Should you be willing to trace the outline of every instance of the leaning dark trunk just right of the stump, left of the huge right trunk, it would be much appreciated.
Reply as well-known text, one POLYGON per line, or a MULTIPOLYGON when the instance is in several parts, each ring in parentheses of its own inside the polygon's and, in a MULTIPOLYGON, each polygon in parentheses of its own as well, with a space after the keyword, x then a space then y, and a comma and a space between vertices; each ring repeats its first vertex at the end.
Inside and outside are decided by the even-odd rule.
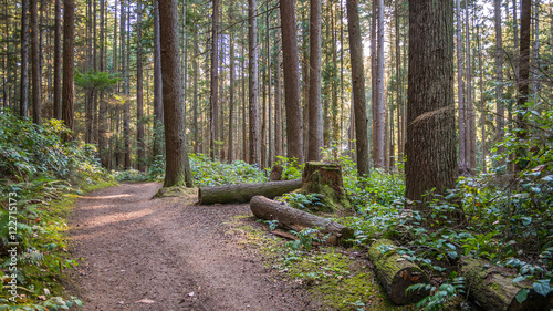
POLYGON ((357 151, 357 172, 368 175, 368 135, 365 103, 365 71, 363 64, 363 44, 361 41, 359 12, 357 1, 347 0, 347 30, 352 58, 353 106, 355 115, 355 145, 357 151))

